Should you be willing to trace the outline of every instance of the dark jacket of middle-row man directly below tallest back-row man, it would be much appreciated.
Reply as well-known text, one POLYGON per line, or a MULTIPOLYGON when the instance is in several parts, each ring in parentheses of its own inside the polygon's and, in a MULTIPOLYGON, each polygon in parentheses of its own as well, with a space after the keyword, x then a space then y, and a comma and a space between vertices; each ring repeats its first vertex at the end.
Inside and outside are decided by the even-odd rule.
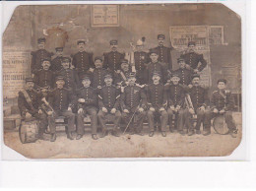
POLYGON ((160 62, 156 62, 156 63, 151 62, 148 65, 147 77, 146 77, 148 84, 153 83, 152 77, 153 77, 153 73, 155 73, 155 72, 160 73, 160 75, 161 75, 160 82, 165 84, 167 82, 168 72, 167 72, 166 65, 162 64, 160 62))

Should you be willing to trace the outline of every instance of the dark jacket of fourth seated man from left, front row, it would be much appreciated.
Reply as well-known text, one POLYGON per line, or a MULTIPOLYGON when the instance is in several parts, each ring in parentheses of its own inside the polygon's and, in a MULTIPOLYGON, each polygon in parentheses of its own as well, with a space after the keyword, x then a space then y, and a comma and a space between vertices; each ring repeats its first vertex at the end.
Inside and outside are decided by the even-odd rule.
POLYGON ((120 91, 114 86, 103 86, 98 90, 98 106, 100 109, 105 107, 107 110, 115 108, 120 109, 120 91))

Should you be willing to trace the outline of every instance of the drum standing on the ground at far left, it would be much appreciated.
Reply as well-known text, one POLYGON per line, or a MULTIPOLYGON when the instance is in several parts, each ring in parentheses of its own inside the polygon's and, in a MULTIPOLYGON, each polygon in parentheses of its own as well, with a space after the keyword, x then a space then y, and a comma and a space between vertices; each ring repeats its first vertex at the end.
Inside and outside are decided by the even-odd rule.
POLYGON ((37 121, 23 121, 19 129, 21 142, 23 144, 35 142, 38 138, 38 129, 37 121))

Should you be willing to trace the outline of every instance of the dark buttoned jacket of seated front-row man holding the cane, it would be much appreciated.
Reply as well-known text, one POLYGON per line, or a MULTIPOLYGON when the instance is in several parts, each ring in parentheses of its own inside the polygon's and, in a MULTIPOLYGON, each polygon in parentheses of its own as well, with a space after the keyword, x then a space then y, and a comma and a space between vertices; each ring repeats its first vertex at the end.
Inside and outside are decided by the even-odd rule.
POLYGON ((124 88, 124 93, 121 95, 121 108, 122 110, 128 109, 134 112, 140 105, 146 109, 147 97, 142 88, 134 85, 124 88))

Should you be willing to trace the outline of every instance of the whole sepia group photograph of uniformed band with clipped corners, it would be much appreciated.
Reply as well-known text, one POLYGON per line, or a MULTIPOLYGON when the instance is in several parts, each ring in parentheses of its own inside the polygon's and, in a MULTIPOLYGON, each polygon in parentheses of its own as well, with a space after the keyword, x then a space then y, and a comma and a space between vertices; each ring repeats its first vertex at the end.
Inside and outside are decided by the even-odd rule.
POLYGON ((229 156, 241 43, 220 3, 18 6, 2 41, 4 144, 29 159, 229 156))

